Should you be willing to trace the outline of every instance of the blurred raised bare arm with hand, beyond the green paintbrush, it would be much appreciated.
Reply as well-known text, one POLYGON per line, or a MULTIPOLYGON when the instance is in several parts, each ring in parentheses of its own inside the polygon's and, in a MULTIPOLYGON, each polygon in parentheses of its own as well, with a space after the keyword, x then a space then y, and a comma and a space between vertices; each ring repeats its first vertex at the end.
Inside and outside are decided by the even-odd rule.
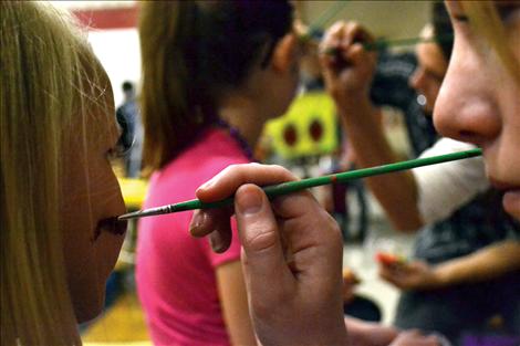
MULTIPOLYGON (((322 46, 322 50, 340 52, 334 56, 322 56, 325 83, 361 167, 396 161, 378 122, 379 111, 368 98, 376 57, 358 42, 370 40, 357 24, 337 23, 327 32, 322 46)), ((366 181, 396 229, 412 231, 423 226, 417 208, 417 186, 409 171, 366 181)))

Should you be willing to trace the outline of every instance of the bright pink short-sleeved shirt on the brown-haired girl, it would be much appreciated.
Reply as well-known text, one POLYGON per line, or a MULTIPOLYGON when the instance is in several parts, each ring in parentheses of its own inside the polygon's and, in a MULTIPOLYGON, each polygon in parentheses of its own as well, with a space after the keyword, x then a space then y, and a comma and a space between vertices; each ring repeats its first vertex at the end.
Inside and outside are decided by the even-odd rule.
MULTIPOLYGON (((153 175, 145 208, 195 198, 195 190, 229 165, 248 162, 225 132, 210 129, 163 170, 153 175)), ((230 249, 211 251, 208 239, 189 234, 193 212, 139 222, 136 281, 155 345, 229 345, 215 270, 240 260, 233 224, 230 249)))

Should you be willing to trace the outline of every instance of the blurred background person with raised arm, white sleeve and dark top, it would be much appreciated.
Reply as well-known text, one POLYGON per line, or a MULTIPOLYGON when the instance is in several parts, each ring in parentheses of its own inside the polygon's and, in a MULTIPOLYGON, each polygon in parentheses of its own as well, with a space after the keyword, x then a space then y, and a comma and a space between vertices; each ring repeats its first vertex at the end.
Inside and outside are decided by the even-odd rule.
MULTIPOLYGON (((409 78, 428 116, 453 46, 444 3, 436 2, 433 9, 434 23, 423 31, 425 42, 416 46, 418 65, 409 78)), ((340 22, 323 45, 323 50, 339 49, 342 42, 336 55, 323 57, 325 84, 362 167, 398 157, 384 136, 381 109, 370 99, 377 60, 362 43, 371 41, 358 24, 340 22)), ((439 139, 420 156, 469 148, 474 146, 439 139)), ((414 262, 382 262, 382 277, 403 290, 396 326, 436 331, 457 343, 465 333, 485 329, 499 314, 505 321, 502 332, 520 333, 514 325, 520 295, 513 293, 520 292, 520 228, 501 209, 500 193, 490 189, 482 158, 368 178, 367 182, 397 230, 418 230, 414 262)))

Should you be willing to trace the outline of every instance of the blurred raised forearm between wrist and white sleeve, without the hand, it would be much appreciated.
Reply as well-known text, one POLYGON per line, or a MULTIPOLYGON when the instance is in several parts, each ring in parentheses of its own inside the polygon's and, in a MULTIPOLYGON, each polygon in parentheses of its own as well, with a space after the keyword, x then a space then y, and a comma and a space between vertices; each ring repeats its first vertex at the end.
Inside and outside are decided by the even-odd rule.
MULTIPOLYGON (((377 120, 378 112, 367 97, 355 104, 336 103, 356 162, 372 167, 396 161, 377 120)), ((367 178, 366 182, 397 230, 413 231, 423 226, 417 208, 417 186, 409 171, 367 178)))

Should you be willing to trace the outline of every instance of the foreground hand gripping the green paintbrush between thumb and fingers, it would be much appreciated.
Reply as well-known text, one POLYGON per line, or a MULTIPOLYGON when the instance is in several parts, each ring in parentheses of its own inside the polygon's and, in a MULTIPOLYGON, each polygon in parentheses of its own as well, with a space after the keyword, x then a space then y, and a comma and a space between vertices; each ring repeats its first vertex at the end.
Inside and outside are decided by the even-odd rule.
POLYGON ((235 210, 251 317, 262 344, 344 345, 340 229, 309 191, 270 202, 258 187, 287 181, 297 177, 280 166, 228 167, 196 195, 204 202, 235 195, 233 208, 196 211, 190 232, 209 233, 214 249, 222 251, 235 210))

